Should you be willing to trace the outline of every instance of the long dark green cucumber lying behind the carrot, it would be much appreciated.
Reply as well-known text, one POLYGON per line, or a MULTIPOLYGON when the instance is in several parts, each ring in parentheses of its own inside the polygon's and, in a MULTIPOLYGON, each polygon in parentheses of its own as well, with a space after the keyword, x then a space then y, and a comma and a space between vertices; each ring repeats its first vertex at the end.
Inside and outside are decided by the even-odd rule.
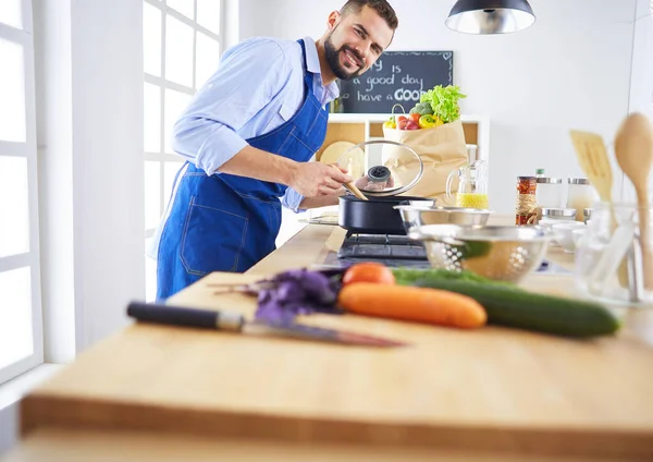
POLYGON ((518 288, 455 279, 426 278, 415 285, 471 296, 488 313, 488 323, 566 337, 594 337, 616 332, 620 323, 605 306, 563 299, 518 288))

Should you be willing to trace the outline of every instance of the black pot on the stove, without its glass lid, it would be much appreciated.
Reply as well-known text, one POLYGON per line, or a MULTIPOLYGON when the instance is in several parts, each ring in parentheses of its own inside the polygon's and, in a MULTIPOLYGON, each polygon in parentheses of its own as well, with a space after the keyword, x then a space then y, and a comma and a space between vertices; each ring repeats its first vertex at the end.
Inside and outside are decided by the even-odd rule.
POLYGON ((433 199, 426 197, 385 196, 361 200, 352 195, 344 195, 340 197, 337 223, 352 233, 406 234, 402 215, 393 207, 416 200, 424 200, 428 205, 433 203, 433 199))

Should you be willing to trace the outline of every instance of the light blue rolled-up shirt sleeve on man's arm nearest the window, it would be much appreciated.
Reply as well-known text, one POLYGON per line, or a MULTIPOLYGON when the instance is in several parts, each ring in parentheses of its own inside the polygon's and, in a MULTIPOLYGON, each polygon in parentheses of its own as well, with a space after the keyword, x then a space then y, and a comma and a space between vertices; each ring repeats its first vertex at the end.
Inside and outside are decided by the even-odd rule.
POLYGON ((271 40, 251 39, 227 51, 174 124, 174 151, 217 173, 247 146, 238 130, 279 92, 287 65, 284 51, 271 40))

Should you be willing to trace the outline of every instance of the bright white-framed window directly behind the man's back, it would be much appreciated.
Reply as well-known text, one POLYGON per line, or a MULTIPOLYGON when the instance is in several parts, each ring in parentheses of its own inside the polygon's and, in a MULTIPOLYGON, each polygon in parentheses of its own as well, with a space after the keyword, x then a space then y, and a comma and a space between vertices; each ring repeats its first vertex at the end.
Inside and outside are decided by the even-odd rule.
MULTIPOLYGON (((222 51, 221 0, 145 0, 145 240, 149 247, 183 165, 171 148, 172 126, 190 97, 215 71, 222 51)), ((156 263, 146 258, 147 300, 153 300, 156 263)))

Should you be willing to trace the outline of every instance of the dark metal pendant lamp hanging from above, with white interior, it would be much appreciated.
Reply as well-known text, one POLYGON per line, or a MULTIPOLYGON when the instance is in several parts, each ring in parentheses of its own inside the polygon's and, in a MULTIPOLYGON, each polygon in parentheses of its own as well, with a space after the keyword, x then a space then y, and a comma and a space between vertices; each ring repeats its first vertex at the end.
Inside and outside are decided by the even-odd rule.
POLYGON ((464 34, 507 34, 534 22, 527 0, 458 0, 445 24, 464 34))

